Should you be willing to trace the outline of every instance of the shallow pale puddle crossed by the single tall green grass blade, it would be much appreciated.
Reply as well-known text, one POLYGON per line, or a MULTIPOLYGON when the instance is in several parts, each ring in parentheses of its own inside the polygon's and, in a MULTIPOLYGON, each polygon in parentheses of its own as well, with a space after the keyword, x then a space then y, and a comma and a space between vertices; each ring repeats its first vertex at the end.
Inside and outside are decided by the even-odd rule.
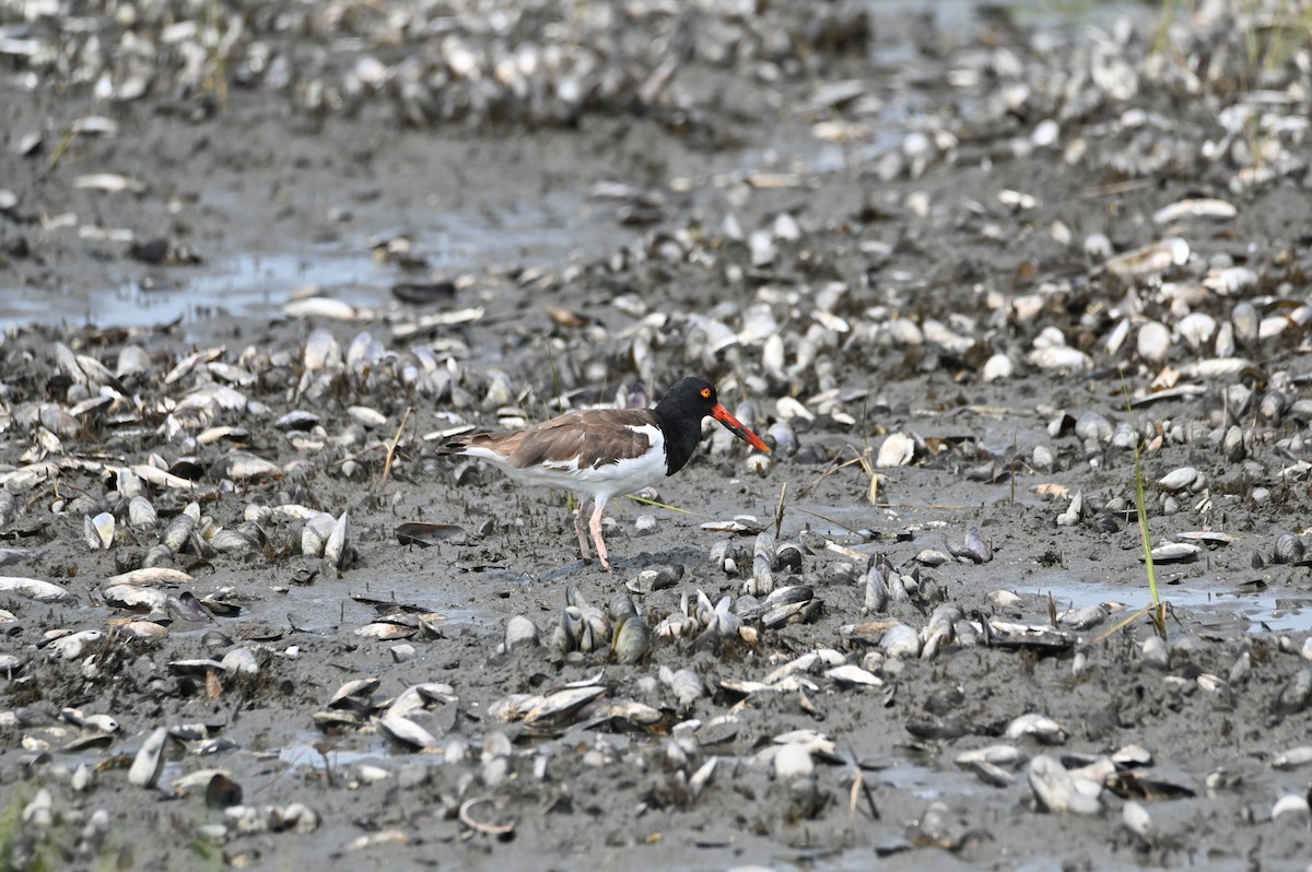
MULTIPOLYGON (((1081 608, 1102 602, 1126 603, 1131 608, 1141 608, 1149 602, 1147 582, 1144 585, 1115 584, 1098 578, 1082 578, 1067 572, 1046 572, 1025 585, 1026 590, 1052 595, 1057 610, 1081 608)), ((1203 612, 1216 612, 1245 624, 1248 631, 1275 631, 1300 633, 1312 629, 1312 595, 1290 590, 1282 584, 1265 589, 1254 586, 1235 587, 1215 578, 1186 578, 1178 585, 1162 584, 1158 591, 1176 608, 1203 612)))

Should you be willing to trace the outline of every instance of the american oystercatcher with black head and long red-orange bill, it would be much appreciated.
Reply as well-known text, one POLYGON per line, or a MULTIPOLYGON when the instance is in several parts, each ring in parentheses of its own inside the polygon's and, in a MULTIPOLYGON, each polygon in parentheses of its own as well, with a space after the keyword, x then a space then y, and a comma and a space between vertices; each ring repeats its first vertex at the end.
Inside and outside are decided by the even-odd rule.
POLYGON ((702 420, 711 416, 737 438, 766 454, 761 438, 728 413, 706 379, 684 379, 653 409, 584 409, 567 412, 525 430, 455 437, 440 454, 491 460, 523 484, 572 490, 579 498, 575 531, 584 559, 588 532, 597 559, 610 572, 601 538, 601 513, 622 497, 672 476, 689 462, 702 438, 702 420), (584 522, 588 498, 596 504, 584 522))

